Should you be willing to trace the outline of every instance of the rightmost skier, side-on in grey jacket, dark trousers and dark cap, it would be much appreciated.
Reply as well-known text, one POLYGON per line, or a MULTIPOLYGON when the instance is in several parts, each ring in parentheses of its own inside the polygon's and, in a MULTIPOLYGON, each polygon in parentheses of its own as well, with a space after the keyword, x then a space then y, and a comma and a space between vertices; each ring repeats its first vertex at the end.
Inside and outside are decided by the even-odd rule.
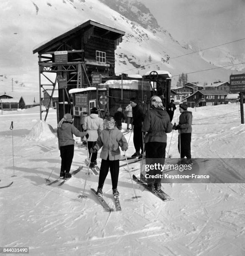
POLYGON ((192 113, 187 111, 187 104, 182 103, 179 105, 179 124, 173 126, 173 130, 179 130, 178 149, 180 153, 180 162, 184 161, 186 164, 191 164, 191 124, 192 113), (184 158, 186 157, 186 160, 184 158))

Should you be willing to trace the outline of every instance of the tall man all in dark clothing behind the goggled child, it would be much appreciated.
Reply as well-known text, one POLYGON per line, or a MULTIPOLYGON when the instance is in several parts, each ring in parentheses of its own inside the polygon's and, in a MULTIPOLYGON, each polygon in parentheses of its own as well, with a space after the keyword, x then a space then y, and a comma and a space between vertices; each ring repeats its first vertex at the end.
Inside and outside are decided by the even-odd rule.
POLYGON ((143 154, 143 136, 142 136, 142 122, 145 118, 145 114, 143 109, 138 105, 138 100, 133 97, 130 99, 130 104, 132 106, 132 114, 133 114, 133 144, 135 147, 135 153, 132 157, 142 157, 143 154), (141 148, 141 154, 140 154, 141 148))

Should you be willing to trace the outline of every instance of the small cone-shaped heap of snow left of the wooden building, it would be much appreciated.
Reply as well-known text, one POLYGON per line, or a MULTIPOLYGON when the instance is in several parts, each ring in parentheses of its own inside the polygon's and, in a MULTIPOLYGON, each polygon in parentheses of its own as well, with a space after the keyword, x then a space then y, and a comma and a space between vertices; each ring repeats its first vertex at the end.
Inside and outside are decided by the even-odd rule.
POLYGON ((55 138, 54 133, 51 132, 48 124, 41 120, 31 128, 30 133, 26 136, 26 139, 33 141, 46 141, 53 138, 55 138))

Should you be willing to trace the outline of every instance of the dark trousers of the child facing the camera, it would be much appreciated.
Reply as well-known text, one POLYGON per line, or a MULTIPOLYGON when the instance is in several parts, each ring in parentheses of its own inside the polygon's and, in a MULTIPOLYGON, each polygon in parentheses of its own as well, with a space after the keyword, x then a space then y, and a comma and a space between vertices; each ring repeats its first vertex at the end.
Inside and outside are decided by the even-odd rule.
POLYGON ((117 188, 118 175, 119 175, 119 160, 111 161, 109 160, 109 156, 107 160, 104 160, 104 159, 101 160, 98 188, 103 187, 105 178, 107 177, 107 174, 109 172, 109 167, 110 167, 110 173, 112 178, 112 189, 117 188))

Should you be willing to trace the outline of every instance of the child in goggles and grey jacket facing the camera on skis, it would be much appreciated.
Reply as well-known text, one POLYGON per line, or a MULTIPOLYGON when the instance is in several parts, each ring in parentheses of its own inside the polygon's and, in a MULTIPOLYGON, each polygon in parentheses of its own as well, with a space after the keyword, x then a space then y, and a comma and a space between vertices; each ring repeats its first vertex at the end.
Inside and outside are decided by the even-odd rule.
POLYGON ((115 127, 115 119, 113 116, 108 116, 105 118, 106 129, 104 129, 93 148, 90 149, 91 153, 97 153, 97 151, 102 147, 100 157, 102 159, 100 166, 100 177, 97 189, 97 195, 102 196, 102 188, 107 177, 109 167, 110 174, 112 178, 112 193, 114 196, 118 196, 117 182, 119 175, 119 159, 120 159, 120 149, 121 146, 123 151, 128 149, 128 143, 117 127, 115 127))

